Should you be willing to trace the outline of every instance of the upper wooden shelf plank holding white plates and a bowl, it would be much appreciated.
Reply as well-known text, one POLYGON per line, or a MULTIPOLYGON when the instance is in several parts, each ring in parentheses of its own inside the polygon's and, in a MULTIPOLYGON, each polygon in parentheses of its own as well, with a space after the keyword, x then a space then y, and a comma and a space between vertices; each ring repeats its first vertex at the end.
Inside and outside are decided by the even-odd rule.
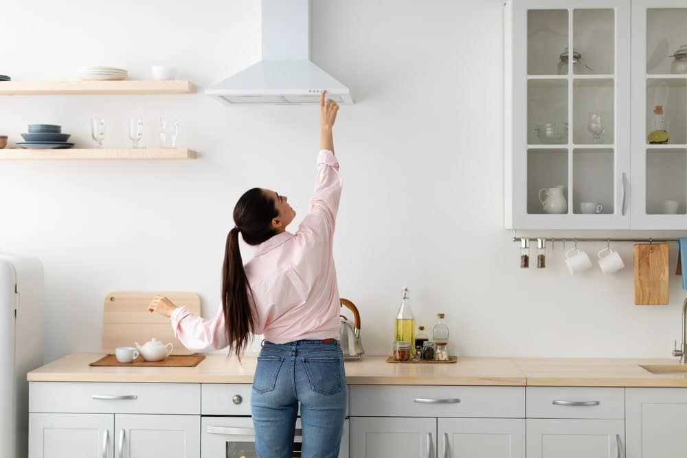
POLYGON ((190 94, 187 80, 0 81, 0 95, 190 94))

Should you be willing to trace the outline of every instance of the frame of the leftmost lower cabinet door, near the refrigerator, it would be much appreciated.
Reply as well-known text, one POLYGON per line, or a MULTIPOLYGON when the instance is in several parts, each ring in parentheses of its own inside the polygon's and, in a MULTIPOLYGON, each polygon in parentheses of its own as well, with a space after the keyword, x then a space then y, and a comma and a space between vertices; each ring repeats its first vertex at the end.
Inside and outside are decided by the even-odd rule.
MULTIPOLYGON (((97 429, 96 433, 100 446, 106 449, 104 458, 114 457, 114 426, 115 415, 111 413, 29 413, 29 458, 43 458, 45 448, 45 428, 62 429, 97 429)), ((102 456, 102 455, 93 455, 102 456)), ((65 453, 65 458, 70 455, 65 453)))

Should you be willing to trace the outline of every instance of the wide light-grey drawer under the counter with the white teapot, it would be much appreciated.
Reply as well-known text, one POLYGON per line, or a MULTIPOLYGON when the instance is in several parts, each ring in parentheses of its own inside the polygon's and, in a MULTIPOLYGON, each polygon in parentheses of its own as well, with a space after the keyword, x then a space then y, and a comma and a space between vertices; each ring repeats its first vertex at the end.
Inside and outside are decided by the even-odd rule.
POLYGON ((30 382, 30 412, 200 415, 199 383, 30 382))

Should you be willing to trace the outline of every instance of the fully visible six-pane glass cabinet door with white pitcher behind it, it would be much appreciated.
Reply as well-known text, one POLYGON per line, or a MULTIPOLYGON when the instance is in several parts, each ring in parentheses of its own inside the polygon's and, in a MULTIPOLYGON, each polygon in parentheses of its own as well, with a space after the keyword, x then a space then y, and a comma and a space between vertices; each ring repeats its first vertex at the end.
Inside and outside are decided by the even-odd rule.
POLYGON ((629 13, 513 2, 516 229, 629 229, 629 13))

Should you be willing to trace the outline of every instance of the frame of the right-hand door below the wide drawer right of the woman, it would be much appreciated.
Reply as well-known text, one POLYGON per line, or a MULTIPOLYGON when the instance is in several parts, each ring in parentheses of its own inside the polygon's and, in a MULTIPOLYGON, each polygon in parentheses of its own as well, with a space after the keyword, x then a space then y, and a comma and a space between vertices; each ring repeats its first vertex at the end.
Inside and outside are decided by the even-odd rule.
MULTIPOLYGON (((437 422, 437 457, 450 458, 453 455, 453 435, 509 435, 510 453, 503 457, 525 458, 525 419, 524 418, 439 418, 437 422)), ((462 455, 455 455, 458 458, 462 455)))

